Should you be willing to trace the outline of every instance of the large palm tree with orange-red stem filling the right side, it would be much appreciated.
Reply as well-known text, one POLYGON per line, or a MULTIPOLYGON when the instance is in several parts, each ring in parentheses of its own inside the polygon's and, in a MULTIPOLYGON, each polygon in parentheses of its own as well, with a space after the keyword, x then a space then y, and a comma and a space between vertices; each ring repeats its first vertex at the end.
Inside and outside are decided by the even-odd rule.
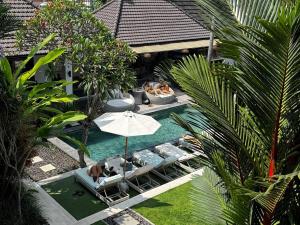
POLYGON ((203 224, 295 224, 299 219, 300 3, 198 0, 234 65, 201 56, 172 69, 199 114, 174 119, 208 167, 195 181, 203 224), (208 139, 207 136, 210 138, 208 139), (204 146, 204 147, 203 147, 204 146))

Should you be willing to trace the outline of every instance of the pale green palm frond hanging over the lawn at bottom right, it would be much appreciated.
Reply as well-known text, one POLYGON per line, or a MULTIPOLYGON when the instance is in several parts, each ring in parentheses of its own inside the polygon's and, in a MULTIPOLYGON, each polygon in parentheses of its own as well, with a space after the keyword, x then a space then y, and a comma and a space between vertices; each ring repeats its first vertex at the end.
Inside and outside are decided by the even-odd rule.
MULTIPOLYGON (((216 158, 222 161, 218 156, 216 158)), ((222 174, 228 173, 225 168, 222 171, 222 174)), ((227 182, 229 186, 236 186, 234 181, 227 182)), ((226 189, 227 185, 223 184, 223 178, 207 167, 201 177, 193 180, 191 198, 194 216, 201 224, 248 224, 250 207, 245 201, 248 197, 235 194, 235 189, 226 189)))

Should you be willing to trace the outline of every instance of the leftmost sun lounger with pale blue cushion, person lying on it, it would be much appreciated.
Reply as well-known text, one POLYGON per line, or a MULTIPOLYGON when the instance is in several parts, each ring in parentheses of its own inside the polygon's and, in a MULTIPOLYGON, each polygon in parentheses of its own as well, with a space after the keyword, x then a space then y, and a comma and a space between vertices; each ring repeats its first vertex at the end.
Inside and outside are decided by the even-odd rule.
POLYGON ((129 195, 122 192, 119 187, 119 183, 123 179, 122 175, 117 174, 112 177, 99 177, 99 182, 94 182, 93 178, 88 175, 89 169, 90 167, 77 169, 75 171, 75 179, 90 190, 96 197, 109 206, 129 199, 129 195), (108 189, 111 187, 115 187, 117 191, 108 194, 108 189))

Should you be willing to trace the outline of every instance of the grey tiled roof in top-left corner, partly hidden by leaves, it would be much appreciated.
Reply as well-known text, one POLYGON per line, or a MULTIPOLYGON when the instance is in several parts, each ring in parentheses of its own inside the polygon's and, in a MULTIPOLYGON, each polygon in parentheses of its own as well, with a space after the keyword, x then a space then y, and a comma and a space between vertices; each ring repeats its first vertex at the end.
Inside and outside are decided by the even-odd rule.
MULTIPOLYGON (((10 7, 10 13, 22 21, 28 20, 35 15, 37 9, 26 0, 2 0, 2 3, 10 7)), ((3 48, 6 56, 27 55, 28 52, 21 52, 16 47, 16 39, 14 32, 11 32, 6 38, 0 40, 0 45, 3 48)))

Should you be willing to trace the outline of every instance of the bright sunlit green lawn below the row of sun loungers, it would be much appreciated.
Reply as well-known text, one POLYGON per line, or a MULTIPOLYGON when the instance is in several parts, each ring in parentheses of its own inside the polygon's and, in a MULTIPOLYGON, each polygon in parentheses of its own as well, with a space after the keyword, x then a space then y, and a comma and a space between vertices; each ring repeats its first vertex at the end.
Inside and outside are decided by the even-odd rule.
POLYGON ((186 183, 133 207, 155 225, 198 225, 189 199, 192 183, 186 183))

